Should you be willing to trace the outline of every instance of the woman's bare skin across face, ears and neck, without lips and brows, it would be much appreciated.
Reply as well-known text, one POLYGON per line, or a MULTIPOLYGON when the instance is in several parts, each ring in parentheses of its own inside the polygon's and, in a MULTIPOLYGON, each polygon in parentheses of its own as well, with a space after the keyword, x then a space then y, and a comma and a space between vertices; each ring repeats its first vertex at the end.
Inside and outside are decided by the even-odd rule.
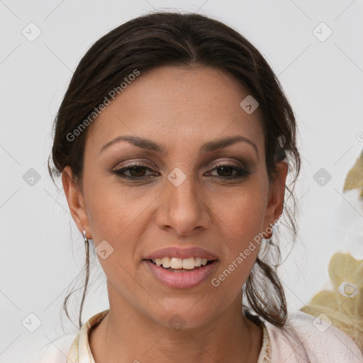
MULTIPOLYGON (((282 213, 287 174, 278 162, 271 185, 264 160, 258 108, 247 114, 248 95, 233 77, 211 67, 160 67, 140 76, 89 125, 82 189, 66 167, 62 183, 79 231, 97 246, 106 240, 113 253, 99 257, 107 277, 110 312, 91 332, 96 363, 257 362, 262 330, 242 314, 241 287, 255 263, 257 248, 220 286, 211 279, 191 289, 164 286, 143 258, 162 247, 197 246, 218 256, 213 277, 225 270, 258 234, 282 213), (153 140, 165 152, 127 141, 101 147, 119 135, 153 140), (242 135, 238 142, 201 152, 203 143, 242 135), (111 172, 138 162, 147 176, 130 181, 111 172), (229 180, 233 164, 251 174, 229 180), (167 176, 178 167, 179 186, 167 176), (154 175, 154 177, 150 177, 154 175), (179 314, 181 330, 169 326, 179 314)), ((74 142, 77 142, 74 141, 74 142)))

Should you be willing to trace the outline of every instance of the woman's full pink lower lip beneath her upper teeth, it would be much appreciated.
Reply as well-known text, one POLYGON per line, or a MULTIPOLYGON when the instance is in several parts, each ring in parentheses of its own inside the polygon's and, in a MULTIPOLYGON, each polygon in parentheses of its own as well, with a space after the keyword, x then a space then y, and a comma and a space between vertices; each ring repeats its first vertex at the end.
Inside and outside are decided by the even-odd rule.
POLYGON ((211 277, 213 270, 216 268, 218 259, 210 264, 206 264, 199 269, 191 272, 172 272, 163 267, 153 264, 149 260, 144 260, 152 274, 164 285, 175 289, 188 289, 201 284, 203 281, 211 277))

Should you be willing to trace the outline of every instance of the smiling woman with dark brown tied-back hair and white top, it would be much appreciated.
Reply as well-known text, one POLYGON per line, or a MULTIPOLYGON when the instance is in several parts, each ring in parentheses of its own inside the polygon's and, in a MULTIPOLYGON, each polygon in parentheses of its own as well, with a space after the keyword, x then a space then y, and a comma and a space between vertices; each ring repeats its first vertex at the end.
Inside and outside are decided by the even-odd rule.
POLYGON ((92 240, 110 308, 82 324, 81 306, 46 362, 362 362, 340 330, 287 314, 274 227, 282 214, 296 236, 296 122, 232 28, 150 13, 104 35, 57 113, 52 162, 84 235, 82 306, 92 240))

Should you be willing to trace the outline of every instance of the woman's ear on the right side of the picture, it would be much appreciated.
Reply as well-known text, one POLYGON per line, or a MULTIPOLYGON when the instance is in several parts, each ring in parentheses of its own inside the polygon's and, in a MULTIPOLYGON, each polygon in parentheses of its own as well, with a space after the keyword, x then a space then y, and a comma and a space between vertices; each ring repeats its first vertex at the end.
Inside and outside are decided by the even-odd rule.
MULTIPOLYGON (((277 174, 273 176, 269 185, 269 196, 264 216, 264 231, 271 230, 271 225, 279 219, 284 211, 284 196, 288 165, 284 161, 276 163, 277 174)), ((266 232, 264 233, 266 234, 266 232)), ((271 238, 272 233, 269 233, 271 238)))

